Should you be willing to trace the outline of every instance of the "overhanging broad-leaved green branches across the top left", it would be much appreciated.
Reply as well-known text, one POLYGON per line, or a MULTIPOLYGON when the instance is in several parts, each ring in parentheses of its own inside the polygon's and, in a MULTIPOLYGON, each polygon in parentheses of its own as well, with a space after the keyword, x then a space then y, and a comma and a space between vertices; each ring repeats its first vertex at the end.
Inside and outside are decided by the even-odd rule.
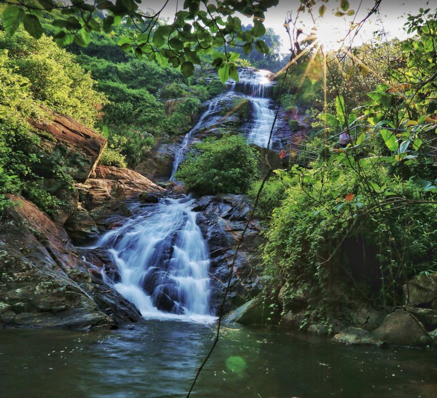
POLYGON ((29 34, 39 38, 42 34, 40 20, 44 16, 44 22, 56 28, 54 38, 61 47, 72 43, 87 46, 91 42, 91 32, 104 30, 109 33, 124 20, 129 29, 118 41, 124 51, 137 58, 156 59, 161 66, 170 64, 180 68, 185 77, 193 74, 194 64, 200 65, 198 53, 213 53, 216 47, 224 46, 225 54, 217 55, 212 65, 225 82, 229 77, 238 80, 234 63, 238 54, 226 51, 227 46, 238 44, 248 53, 255 44, 258 51, 269 52, 268 45, 259 37, 266 32, 262 22, 265 11, 278 1, 226 1, 219 6, 209 3, 206 10, 201 9, 201 0, 186 1, 171 23, 160 20, 161 10, 150 15, 140 10, 139 3, 141 0, 116 3, 44 0, 35 5, 33 1, 24 0, 8 5, 1 17, 10 35, 22 23, 29 34), (102 10, 107 13, 103 14, 102 10), (240 18, 233 16, 236 11, 253 15, 254 25, 243 30, 240 18))

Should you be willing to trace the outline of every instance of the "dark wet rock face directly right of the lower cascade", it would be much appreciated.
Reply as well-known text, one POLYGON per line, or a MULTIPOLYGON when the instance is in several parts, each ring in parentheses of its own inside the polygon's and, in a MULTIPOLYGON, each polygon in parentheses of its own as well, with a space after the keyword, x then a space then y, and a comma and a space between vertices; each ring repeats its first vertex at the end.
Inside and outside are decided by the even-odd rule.
MULTIPOLYGON (((217 309, 225 290, 229 267, 238 239, 252 211, 252 201, 245 195, 205 196, 194 202, 197 224, 208 243, 211 265, 211 305, 217 309)), ((241 305, 262 290, 260 266, 260 232, 263 227, 255 219, 246 231, 240 247, 225 311, 241 305)))

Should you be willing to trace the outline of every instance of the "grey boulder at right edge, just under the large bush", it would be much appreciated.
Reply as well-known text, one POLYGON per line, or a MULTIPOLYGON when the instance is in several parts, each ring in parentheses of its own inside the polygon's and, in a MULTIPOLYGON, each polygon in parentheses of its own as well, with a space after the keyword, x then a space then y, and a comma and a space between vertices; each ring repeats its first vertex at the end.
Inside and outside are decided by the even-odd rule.
POLYGON ((437 272, 416 275, 403 286, 407 305, 430 304, 437 299, 437 272), (408 286, 407 286, 408 285, 408 286))

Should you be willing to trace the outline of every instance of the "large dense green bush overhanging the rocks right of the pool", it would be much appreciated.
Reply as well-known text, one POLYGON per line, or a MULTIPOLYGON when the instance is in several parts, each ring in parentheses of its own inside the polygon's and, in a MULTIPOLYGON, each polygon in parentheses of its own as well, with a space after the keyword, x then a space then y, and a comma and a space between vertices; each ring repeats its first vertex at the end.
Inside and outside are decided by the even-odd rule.
POLYGON ((382 166, 366 170, 364 184, 352 167, 313 167, 294 169, 273 211, 266 275, 287 282, 290 292, 308 292, 310 309, 324 319, 333 292, 345 284, 381 306, 399 304, 408 278, 437 270, 437 206, 421 202, 431 194, 382 166))

